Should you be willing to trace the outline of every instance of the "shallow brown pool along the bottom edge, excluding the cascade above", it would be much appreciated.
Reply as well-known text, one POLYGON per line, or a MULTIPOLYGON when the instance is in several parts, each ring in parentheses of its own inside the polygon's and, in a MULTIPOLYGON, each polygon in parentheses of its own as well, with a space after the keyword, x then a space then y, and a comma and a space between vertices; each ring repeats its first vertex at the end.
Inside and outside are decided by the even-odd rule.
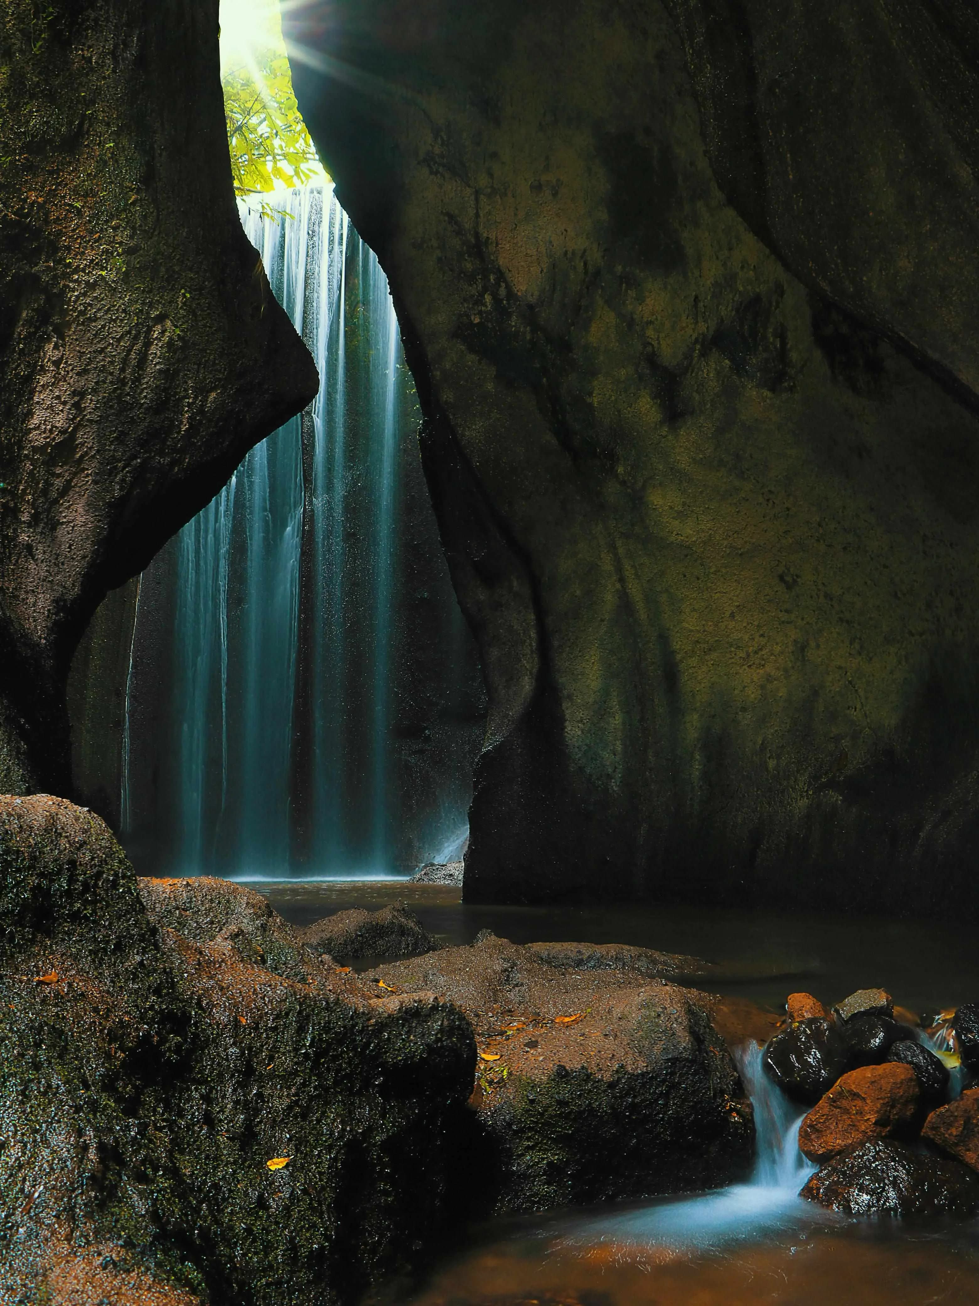
MULTIPOLYGON (((653 1221, 668 1203, 646 1208, 653 1221)), ((569 1218, 510 1229, 440 1269, 412 1306, 975 1306, 976 1226, 897 1229, 786 1221, 735 1243, 692 1247, 628 1235, 610 1212, 602 1235, 569 1218)))

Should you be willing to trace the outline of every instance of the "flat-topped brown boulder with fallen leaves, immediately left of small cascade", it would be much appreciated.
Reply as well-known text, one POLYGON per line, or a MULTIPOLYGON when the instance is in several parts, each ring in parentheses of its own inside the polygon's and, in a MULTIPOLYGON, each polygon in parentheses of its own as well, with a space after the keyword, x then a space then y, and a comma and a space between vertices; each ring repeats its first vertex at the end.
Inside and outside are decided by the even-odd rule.
POLYGON ((610 955, 591 946, 551 948, 486 935, 362 977, 435 993, 471 1021, 474 1106, 491 1144, 479 1177, 487 1205, 543 1209, 743 1175, 751 1106, 710 999, 651 974, 570 969, 569 956, 610 955))

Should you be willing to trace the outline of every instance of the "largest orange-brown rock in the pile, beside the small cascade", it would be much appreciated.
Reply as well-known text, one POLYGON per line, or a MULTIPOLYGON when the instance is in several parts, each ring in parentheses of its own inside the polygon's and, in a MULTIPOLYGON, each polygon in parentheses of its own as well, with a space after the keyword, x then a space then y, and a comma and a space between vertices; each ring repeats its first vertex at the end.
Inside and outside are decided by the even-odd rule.
POLYGON ((886 1138, 910 1123, 920 1100, 910 1066, 862 1066, 843 1075, 799 1126, 799 1147, 811 1161, 886 1138), (910 1074, 907 1074, 910 1071, 910 1074))

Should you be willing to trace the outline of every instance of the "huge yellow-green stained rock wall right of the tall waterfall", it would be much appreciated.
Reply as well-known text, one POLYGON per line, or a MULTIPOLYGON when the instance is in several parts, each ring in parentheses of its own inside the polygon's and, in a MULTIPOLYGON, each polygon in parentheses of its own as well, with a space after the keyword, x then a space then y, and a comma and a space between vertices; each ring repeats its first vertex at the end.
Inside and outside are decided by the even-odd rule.
MULTIPOLYGON (((801 50, 820 7, 744 8, 768 14, 773 90, 830 57, 824 17, 880 7, 821 7, 824 63, 803 52, 785 68, 777 52, 801 50)), ((881 252, 863 281, 873 303, 824 276, 829 244, 812 266, 805 244, 790 257, 768 209, 741 200, 756 174, 731 191, 743 212, 718 185, 710 123, 707 157, 707 93, 722 108, 728 90, 735 107, 754 93, 751 77, 724 81, 731 16, 715 9, 338 0, 285 16, 287 39, 350 72, 296 60, 296 94, 390 278, 480 641, 489 717, 465 896, 878 910, 954 896, 975 914, 972 229, 961 206, 954 227, 927 226, 941 285, 962 268, 954 358, 889 316, 933 266, 901 225, 875 227, 901 276, 881 252), (718 50, 677 26, 681 10, 710 10, 718 50), (694 56, 706 72, 692 80, 694 56)), ((846 76, 882 95, 886 33, 868 24, 846 76)), ((920 144, 915 103, 901 112, 920 144)), ((863 167, 826 125, 837 107, 807 119, 805 178, 863 167)), ((765 149, 783 146, 773 128, 765 149)), ((873 148, 881 175, 914 170, 893 133, 873 148)), ((837 246, 862 230, 865 193, 841 201, 837 246)), ((906 307, 929 313, 929 295, 906 307)))

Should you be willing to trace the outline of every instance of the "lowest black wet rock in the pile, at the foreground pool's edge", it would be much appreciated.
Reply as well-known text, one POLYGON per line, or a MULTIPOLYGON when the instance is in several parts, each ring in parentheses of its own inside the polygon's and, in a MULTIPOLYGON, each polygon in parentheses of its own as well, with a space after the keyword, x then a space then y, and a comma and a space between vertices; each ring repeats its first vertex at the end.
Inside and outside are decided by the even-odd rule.
POLYGON ((852 1216, 971 1216, 979 1175, 952 1157, 876 1140, 826 1162, 801 1196, 852 1216))

